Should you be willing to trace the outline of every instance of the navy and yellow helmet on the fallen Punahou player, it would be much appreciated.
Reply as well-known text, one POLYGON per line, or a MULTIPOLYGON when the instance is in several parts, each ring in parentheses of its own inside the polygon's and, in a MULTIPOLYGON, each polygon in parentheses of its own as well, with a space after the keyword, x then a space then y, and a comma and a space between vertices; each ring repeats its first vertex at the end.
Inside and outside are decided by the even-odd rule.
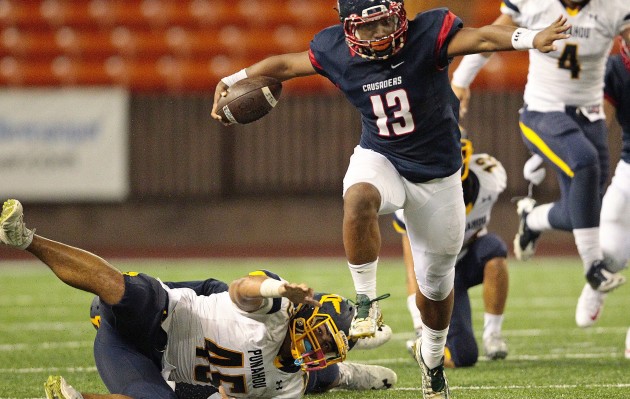
POLYGON ((289 334, 295 364, 305 371, 343 362, 350 344, 348 333, 355 306, 334 294, 317 293, 319 306, 301 304, 291 317, 289 334))

